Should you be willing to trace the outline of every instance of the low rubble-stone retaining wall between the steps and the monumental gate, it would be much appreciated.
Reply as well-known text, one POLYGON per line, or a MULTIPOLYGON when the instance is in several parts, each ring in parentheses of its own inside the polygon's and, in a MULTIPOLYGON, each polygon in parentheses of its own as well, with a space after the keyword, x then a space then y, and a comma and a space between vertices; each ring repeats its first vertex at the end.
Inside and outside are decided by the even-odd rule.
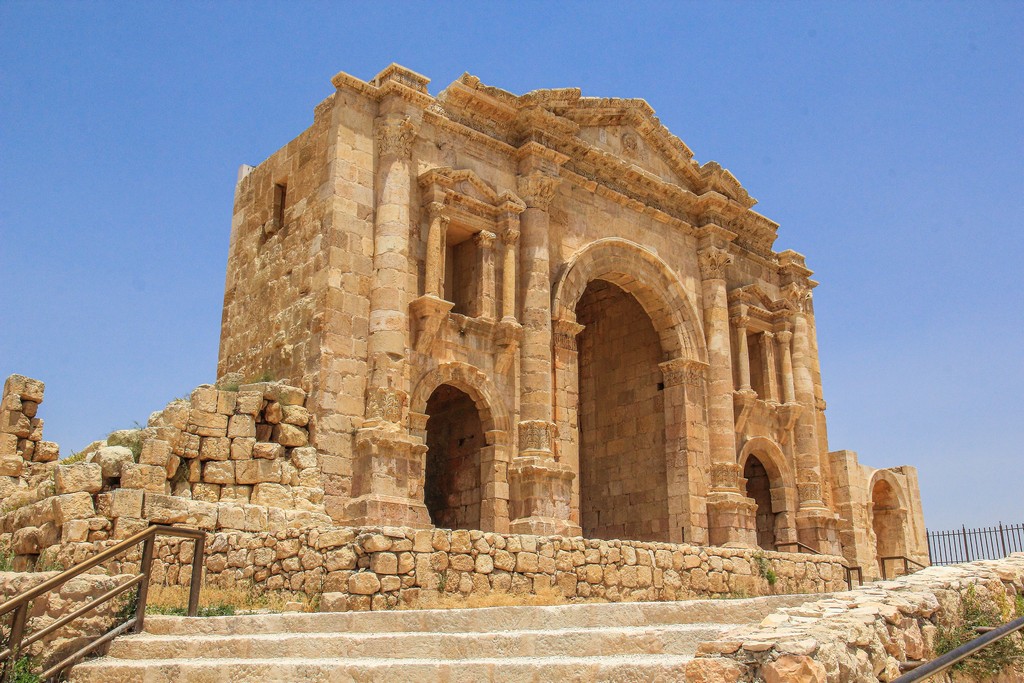
MULTIPOLYGON (((52 559, 71 564, 103 545, 67 544, 52 559)), ((442 594, 628 601, 846 588, 837 557, 468 530, 325 525, 224 531, 210 535, 207 548, 207 585, 322 595, 323 608, 332 610, 416 606, 442 594), (768 569, 774 584, 762 575, 768 569)), ((187 585, 190 559, 190 541, 161 542, 154 581, 187 585)), ((136 554, 111 569, 137 567, 136 554)))

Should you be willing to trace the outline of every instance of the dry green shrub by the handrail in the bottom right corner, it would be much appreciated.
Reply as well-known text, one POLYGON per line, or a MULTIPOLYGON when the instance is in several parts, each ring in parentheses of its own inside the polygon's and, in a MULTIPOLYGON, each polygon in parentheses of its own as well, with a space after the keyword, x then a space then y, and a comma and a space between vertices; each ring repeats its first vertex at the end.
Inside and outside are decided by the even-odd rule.
MULTIPOLYGON (((1013 612, 1024 615, 1024 600, 1017 596, 1013 610, 1010 601, 999 595, 999 599, 985 601, 978 596, 974 586, 968 586, 961 595, 959 613, 951 626, 939 626, 935 638, 935 651, 945 654, 978 637, 979 627, 1000 626, 1013 612)), ((1020 633, 1006 636, 990 643, 976 654, 953 665, 953 671, 961 671, 968 676, 985 679, 1005 672, 1015 665, 1024 663, 1024 638, 1020 633)))

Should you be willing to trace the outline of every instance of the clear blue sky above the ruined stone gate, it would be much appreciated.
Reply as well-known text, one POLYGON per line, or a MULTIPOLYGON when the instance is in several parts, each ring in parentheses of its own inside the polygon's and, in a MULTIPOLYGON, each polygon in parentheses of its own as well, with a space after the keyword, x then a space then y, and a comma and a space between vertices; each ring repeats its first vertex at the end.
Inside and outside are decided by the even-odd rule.
POLYGON ((808 257, 829 444, 1024 521, 1024 3, 0 4, 0 373, 63 454, 215 379, 238 167, 346 71, 643 97, 808 257))

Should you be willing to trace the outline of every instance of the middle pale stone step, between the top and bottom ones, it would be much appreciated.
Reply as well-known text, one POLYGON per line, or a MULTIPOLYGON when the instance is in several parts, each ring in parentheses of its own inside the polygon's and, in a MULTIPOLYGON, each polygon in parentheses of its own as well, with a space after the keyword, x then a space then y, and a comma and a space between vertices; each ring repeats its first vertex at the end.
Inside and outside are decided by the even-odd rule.
POLYGON ((155 636, 118 639, 108 656, 163 658, 411 658, 590 657, 627 654, 692 654, 729 625, 686 624, 650 628, 611 627, 490 633, 306 633, 155 636))

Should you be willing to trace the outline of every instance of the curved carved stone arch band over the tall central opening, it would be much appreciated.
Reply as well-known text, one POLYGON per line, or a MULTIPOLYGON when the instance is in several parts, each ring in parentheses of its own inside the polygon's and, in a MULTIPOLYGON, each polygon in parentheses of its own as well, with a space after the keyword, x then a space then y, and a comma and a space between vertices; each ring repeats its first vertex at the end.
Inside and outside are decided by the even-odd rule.
POLYGON ((555 284, 552 318, 575 323, 577 303, 594 280, 617 285, 640 302, 660 337, 667 360, 708 362, 697 308, 672 268, 652 251, 629 240, 604 238, 574 253, 555 284))

